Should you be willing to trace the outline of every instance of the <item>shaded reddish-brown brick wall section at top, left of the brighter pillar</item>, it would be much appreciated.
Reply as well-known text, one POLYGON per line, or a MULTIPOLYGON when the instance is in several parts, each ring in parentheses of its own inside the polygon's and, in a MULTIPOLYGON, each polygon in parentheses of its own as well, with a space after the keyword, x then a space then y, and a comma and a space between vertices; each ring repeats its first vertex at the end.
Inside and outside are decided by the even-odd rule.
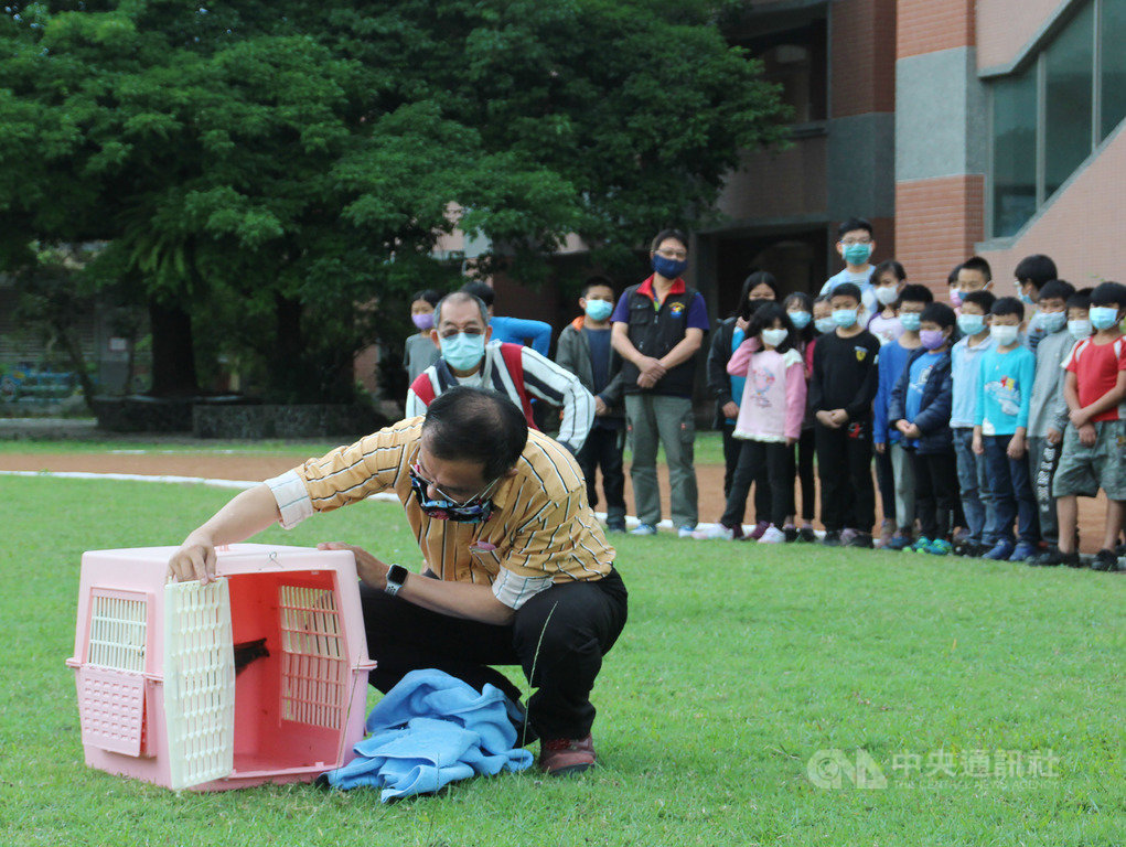
POLYGON ((895 109, 895 0, 831 5, 832 116, 895 109))

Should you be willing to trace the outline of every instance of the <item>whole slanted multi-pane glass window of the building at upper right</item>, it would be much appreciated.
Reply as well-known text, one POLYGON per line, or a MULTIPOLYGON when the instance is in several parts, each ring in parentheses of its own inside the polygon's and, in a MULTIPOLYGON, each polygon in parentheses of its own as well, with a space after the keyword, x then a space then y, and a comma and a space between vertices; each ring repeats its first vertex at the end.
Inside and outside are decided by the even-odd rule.
POLYGON ((1126 117, 1126 0, 1085 0, 991 84, 994 238, 1017 233, 1126 117))

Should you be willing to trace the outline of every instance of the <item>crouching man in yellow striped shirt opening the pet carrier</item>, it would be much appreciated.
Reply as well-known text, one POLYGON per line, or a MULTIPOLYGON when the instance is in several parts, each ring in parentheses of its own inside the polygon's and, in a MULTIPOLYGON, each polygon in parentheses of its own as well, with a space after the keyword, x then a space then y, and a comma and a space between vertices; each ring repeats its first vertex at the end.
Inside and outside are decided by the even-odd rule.
POLYGON ((538 690, 528 725, 548 774, 595 764, 590 692, 626 622, 614 547, 587 502, 571 454, 528 430, 508 398, 457 387, 423 418, 400 421, 348 447, 243 491, 193 532, 169 561, 179 580, 208 581, 215 546, 275 521, 393 491, 422 550, 409 572, 358 546, 370 681, 388 692, 411 670, 437 668, 476 689, 519 690, 493 665, 516 665, 538 690))

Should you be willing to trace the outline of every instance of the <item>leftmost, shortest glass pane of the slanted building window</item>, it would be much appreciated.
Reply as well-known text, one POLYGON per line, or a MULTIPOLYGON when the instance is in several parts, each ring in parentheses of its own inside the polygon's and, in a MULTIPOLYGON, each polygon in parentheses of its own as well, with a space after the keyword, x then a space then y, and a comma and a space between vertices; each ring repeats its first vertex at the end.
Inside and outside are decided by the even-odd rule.
POLYGON ((1036 68, 993 86, 993 235, 1036 213, 1036 68))

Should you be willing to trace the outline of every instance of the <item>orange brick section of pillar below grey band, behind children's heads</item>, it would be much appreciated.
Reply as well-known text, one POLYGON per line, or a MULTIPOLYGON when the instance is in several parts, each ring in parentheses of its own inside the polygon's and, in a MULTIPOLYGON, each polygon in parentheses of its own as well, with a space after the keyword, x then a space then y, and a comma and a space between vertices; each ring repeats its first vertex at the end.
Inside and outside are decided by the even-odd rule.
POLYGON ((908 278, 945 298, 946 275, 974 252, 984 234, 985 180, 981 175, 895 186, 895 258, 908 278))

